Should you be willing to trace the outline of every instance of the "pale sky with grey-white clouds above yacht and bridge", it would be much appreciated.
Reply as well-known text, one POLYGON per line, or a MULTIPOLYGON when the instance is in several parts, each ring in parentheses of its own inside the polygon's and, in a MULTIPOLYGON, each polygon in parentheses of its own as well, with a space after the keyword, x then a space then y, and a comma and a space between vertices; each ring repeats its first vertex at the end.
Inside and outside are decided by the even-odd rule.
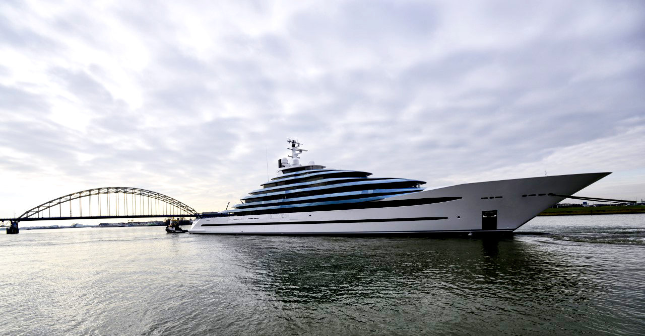
POLYGON ((645 198, 645 2, 1 1, 0 217, 198 211, 303 161, 426 186, 612 171, 645 198), (268 169, 267 169, 268 166, 268 169))

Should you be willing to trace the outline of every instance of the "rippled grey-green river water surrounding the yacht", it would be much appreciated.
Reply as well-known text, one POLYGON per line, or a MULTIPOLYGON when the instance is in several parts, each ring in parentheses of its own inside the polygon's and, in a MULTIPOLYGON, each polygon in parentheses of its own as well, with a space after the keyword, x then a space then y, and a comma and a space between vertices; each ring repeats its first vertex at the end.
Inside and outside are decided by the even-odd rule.
POLYGON ((1 335, 643 335, 645 215, 510 239, 0 235, 1 335))

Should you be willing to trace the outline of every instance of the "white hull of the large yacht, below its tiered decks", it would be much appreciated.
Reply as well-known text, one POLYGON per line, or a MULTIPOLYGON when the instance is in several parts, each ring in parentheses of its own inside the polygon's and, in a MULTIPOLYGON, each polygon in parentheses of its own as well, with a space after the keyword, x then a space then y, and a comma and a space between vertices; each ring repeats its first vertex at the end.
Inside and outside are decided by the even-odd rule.
POLYGON ((194 222, 188 232, 304 235, 512 232, 542 210, 564 199, 549 194, 574 194, 608 174, 570 174, 466 183, 362 203, 384 206, 371 209, 201 218, 194 222), (457 199, 450 200, 452 198, 457 199), (448 200, 402 205, 436 199, 448 200), (497 210, 493 230, 482 226, 482 211, 490 210, 497 210))

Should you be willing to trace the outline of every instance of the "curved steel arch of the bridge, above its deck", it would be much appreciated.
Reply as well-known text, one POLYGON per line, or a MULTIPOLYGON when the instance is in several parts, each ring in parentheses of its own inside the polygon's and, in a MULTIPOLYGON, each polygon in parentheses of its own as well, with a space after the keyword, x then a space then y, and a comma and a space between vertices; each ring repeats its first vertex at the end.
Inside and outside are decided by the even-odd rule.
POLYGON ((166 203, 168 205, 177 207, 177 209, 181 209, 185 211, 186 214, 193 214, 193 215, 197 214, 197 211, 195 211, 195 209, 193 209, 192 207, 189 207, 188 205, 182 203, 181 201, 177 201, 170 196, 160 194, 159 192, 150 191, 146 189, 132 188, 132 187, 103 187, 103 188, 95 188, 95 189, 88 189, 84 191, 73 192, 72 194, 67 194, 65 196, 55 198, 54 200, 45 202, 41 205, 38 205, 37 207, 33 207, 32 209, 26 210, 25 213, 21 214, 16 219, 19 220, 19 219, 33 218, 33 216, 35 216, 36 214, 39 214, 40 212, 51 209, 55 206, 61 205, 65 202, 78 200, 79 198, 84 198, 84 197, 101 195, 101 194, 139 195, 142 197, 148 197, 154 200, 163 201, 163 203, 166 203))

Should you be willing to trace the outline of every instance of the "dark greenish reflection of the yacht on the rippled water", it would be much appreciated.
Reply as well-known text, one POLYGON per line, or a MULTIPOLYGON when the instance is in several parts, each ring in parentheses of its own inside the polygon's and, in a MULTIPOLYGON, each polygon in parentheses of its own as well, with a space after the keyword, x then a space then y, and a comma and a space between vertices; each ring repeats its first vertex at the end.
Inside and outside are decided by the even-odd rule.
POLYGON ((293 326, 296 333, 316 326, 332 332, 337 321, 387 333, 522 334, 532 333, 527 326, 588 332, 610 322, 592 300, 606 291, 593 279, 597 269, 513 238, 218 241, 245 269, 239 280, 273 302, 276 318, 306 324, 293 326), (571 323, 581 319, 590 322, 571 323))

